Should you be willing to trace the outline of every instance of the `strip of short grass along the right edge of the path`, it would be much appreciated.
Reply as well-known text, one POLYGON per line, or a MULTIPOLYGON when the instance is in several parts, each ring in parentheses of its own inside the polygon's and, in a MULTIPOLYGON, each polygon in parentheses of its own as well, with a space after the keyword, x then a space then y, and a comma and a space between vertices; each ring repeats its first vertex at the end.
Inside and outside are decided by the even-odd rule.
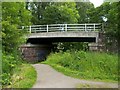
MULTIPOLYGON (((42 64, 48 64, 46 62, 42 62, 42 64)), ((56 71, 63 73, 66 76, 70 76, 73 78, 83 79, 83 80, 91 80, 91 81, 102 81, 102 82, 112 82, 112 83, 118 83, 118 81, 110 80, 110 79, 91 79, 86 77, 86 72, 79 72, 75 70, 71 70, 69 68, 57 65, 57 64, 48 64, 51 67, 53 67, 56 71)), ((78 86, 79 87, 79 86, 78 86)))

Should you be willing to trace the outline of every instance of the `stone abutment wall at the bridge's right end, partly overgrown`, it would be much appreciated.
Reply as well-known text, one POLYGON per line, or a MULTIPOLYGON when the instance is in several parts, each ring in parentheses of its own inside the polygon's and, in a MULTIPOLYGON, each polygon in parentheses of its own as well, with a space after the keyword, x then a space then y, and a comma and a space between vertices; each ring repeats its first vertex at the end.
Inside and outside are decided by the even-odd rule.
POLYGON ((118 43, 114 38, 107 37, 105 33, 99 33, 97 43, 89 43, 90 51, 118 52, 118 43))

